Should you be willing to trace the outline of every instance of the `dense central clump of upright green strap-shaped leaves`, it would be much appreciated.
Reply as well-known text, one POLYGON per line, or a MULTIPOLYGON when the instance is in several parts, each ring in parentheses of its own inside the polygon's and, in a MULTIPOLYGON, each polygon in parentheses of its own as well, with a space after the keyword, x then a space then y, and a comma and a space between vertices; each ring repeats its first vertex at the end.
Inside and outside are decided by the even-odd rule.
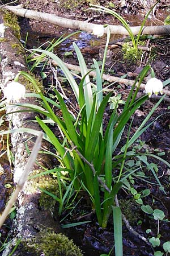
MULTIPOLYGON (((41 110, 37 109, 36 106, 36 111, 40 111, 45 114, 58 125, 59 129, 62 130, 62 133, 65 136, 65 138, 63 138, 65 143, 63 144, 62 142, 59 142, 49 127, 38 117, 36 118, 37 122, 39 122, 39 125, 45 131, 47 139, 56 148, 60 161, 62 159, 63 164, 69 172, 71 180, 74 180, 75 189, 78 190, 83 185, 83 188, 90 194, 92 204, 94 204, 96 209, 99 224, 105 227, 107 226, 109 214, 111 214, 111 205, 113 204, 114 196, 122 185, 120 180, 122 168, 124 167, 123 159, 125 158, 126 150, 124 154, 119 156, 120 159, 118 163, 121 163, 121 171, 118 180, 115 180, 114 183, 112 179, 112 155, 118 146, 124 126, 129 121, 131 114, 135 112, 135 110, 146 100, 148 96, 144 96, 143 98, 135 101, 135 95, 139 86, 133 95, 135 87, 134 84, 120 117, 117 114, 117 108, 114 108, 111 118, 109 119, 107 129, 105 133, 103 133, 103 114, 112 93, 109 93, 103 98, 101 74, 99 66, 94 60, 97 72, 97 92, 93 96, 84 59, 75 44, 74 47, 78 55, 83 77, 79 87, 75 84, 75 80, 73 80, 71 73, 57 56, 51 52, 43 50, 39 51, 48 54, 55 60, 57 59, 57 62, 67 74, 67 79, 70 81, 70 85, 75 92, 75 96, 80 106, 81 117, 79 114, 78 119, 75 119, 73 115, 70 115, 61 94, 59 94, 57 90, 54 90, 59 101, 59 108, 62 110, 64 119, 64 121, 62 121, 61 118, 54 114, 52 108, 50 108, 48 104, 48 101, 37 87, 36 82, 29 75, 23 72, 21 72, 21 74, 27 76, 28 79, 33 82, 35 88, 37 88, 37 92, 39 92, 40 97, 44 102, 43 106, 46 110, 42 110, 42 108, 41 110), (100 176, 105 180, 104 183, 100 176), (104 202, 100 198, 101 187, 104 188, 104 202)), ((149 66, 145 68, 142 72, 142 76, 145 76, 149 68, 149 66)), ((139 84, 140 82, 142 82, 142 79, 139 80, 139 84)), ((53 101, 50 100, 50 103, 52 102, 53 101)), ((58 107, 56 102, 53 102, 53 104, 58 107)), ((31 108, 35 109, 33 106, 31 106, 31 108)), ((117 164, 117 160, 115 163, 117 164)))

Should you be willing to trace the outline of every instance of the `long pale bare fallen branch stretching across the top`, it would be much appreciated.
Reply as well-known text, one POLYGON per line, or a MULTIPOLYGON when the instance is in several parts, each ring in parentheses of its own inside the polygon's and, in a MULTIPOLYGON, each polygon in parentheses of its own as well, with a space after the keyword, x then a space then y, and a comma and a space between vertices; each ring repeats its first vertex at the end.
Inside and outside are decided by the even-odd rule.
MULTIPOLYGON (((3 6, 2 6, 3 7, 3 6)), ((46 22, 56 24, 59 27, 65 28, 73 28, 74 30, 83 30, 87 32, 92 32, 95 24, 87 23, 80 20, 73 20, 62 18, 54 14, 48 13, 41 13, 39 11, 32 11, 28 9, 24 9, 21 6, 5 6, 7 10, 12 11, 14 14, 18 16, 22 16, 29 19, 37 19, 37 20, 44 20, 46 22)), ((129 35, 128 31, 123 26, 113 26, 109 24, 109 28, 111 34, 118 34, 118 35, 129 35)), ((140 26, 130 27, 133 35, 138 35, 140 26)), ((104 32, 107 34, 107 28, 104 29, 104 32)), ((143 27, 142 35, 163 35, 170 33, 170 25, 166 26, 148 26, 143 27)))

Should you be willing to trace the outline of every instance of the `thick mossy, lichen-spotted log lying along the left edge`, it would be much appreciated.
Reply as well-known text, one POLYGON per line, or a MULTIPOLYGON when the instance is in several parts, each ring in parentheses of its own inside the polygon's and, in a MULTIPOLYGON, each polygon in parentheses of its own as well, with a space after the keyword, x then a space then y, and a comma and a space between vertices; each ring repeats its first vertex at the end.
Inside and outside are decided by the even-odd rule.
MULTIPOLYGON (((27 68, 27 63, 25 61, 24 48, 22 44, 19 42, 20 33, 19 26, 17 22, 17 17, 10 13, 9 11, 1 10, 1 43, 0 43, 0 54, 1 54, 1 81, 0 86, 2 91, 8 82, 14 80, 15 76, 19 71, 29 72, 27 68)), ((20 83, 24 84, 27 88, 27 92, 32 92, 33 88, 31 83, 24 79, 20 79, 20 83)), ((40 83, 40 82, 39 82, 40 83)), ((40 86, 42 86, 40 84, 40 86)), ((23 103, 31 103, 35 104, 35 98, 26 98, 22 100, 23 103)), ((39 125, 36 122, 31 122, 31 120, 35 119, 35 113, 33 112, 20 112, 20 113, 12 113, 14 110, 19 110, 19 107, 7 104, 7 118, 11 123, 12 128, 18 129, 21 127, 27 127, 35 130, 40 130, 39 125)), ((36 114, 37 115, 37 114, 36 114)), ((35 143, 35 138, 32 138, 31 134, 26 133, 12 133, 11 134, 11 144, 12 144, 12 152, 15 156, 14 163, 14 181, 17 183, 20 175, 24 171, 25 164, 28 160, 28 150, 25 148, 25 143, 30 151, 32 151, 33 144, 35 143)), ((42 147, 49 147, 45 141, 42 142, 42 147)), ((45 157, 44 155, 39 154, 37 158, 37 162, 41 164, 41 166, 46 167, 49 166, 49 156, 45 157)), ((35 164, 33 167, 33 174, 40 173, 42 170, 39 164, 35 164)), ((12 224, 11 236, 13 237, 11 242, 8 243, 8 246, 3 251, 3 256, 11 255, 11 251, 18 242, 20 243, 16 248, 15 252, 12 255, 32 255, 32 256, 40 256, 43 255, 61 255, 58 252, 62 251, 62 255, 67 256, 67 251, 71 252, 69 255, 78 255, 82 256, 80 250, 74 245, 73 241, 70 243, 70 247, 66 248, 66 253, 63 249, 63 244, 66 240, 66 236, 62 234, 61 237, 56 237, 57 234, 63 233, 61 226, 58 223, 57 216, 55 219, 52 215, 52 209, 45 209, 42 205, 40 207, 40 197, 41 192, 39 191, 39 187, 42 187, 42 183, 45 185, 48 190, 48 187, 53 187, 56 185, 57 191, 57 183, 56 180, 53 180, 51 177, 40 177, 36 179, 29 179, 27 183, 24 185, 22 192, 18 197, 18 201, 16 204, 16 218, 12 224), (45 238, 53 237, 54 248, 56 254, 50 254, 50 251, 54 251, 51 247, 48 250, 48 246, 45 246, 43 242, 43 236, 40 237, 41 234, 44 234, 45 238), (40 239, 41 238, 41 239, 40 239), (61 247, 59 247, 59 241, 63 238, 63 243, 61 242, 61 247), (29 242, 29 245, 28 245, 29 242), (41 249, 41 244, 45 246, 46 252, 44 249, 41 249), (34 249, 33 249, 34 248, 34 249), (76 248, 76 249, 75 249, 76 248), (30 251, 29 251, 30 250, 30 251)), ((44 199, 43 199, 44 200, 44 199)), ((41 202, 43 201, 41 200, 41 202)), ((49 199, 48 199, 49 200, 49 199)), ((52 246, 50 244, 50 246, 52 246)), ((43 246, 42 246, 43 247, 43 246)))

